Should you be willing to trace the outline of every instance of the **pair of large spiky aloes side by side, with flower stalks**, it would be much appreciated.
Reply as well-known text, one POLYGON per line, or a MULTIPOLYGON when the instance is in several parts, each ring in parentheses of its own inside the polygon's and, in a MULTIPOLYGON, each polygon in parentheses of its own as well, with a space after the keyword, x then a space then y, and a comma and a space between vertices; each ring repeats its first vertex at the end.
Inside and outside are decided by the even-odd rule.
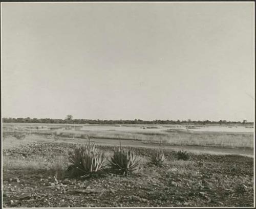
MULTIPOLYGON (((89 137, 88 137, 89 138, 89 137)), ((71 176, 87 177, 99 174, 109 166, 111 169, 120 172, 124 176, 131 174, 139 164, 133 149, 122 148, 121 143, 115 149, 108 163, 105 163, 106 156, 98 150, 95 144, 89 143, 75 146, 69 154, 69 166, 71 176)))

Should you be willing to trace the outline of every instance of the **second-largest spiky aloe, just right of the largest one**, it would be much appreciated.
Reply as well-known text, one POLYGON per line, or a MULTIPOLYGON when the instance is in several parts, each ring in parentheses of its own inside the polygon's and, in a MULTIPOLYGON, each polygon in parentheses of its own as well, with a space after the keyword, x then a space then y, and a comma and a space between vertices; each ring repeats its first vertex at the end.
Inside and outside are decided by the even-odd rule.
POLYGON ((114 150, 111 159, 109 160, 109 166, 123 176, 131 174, 136 167, 139 165, 139 160, 135 152, 131 148, 122 148, 121 146, 118 149, 114 150))

